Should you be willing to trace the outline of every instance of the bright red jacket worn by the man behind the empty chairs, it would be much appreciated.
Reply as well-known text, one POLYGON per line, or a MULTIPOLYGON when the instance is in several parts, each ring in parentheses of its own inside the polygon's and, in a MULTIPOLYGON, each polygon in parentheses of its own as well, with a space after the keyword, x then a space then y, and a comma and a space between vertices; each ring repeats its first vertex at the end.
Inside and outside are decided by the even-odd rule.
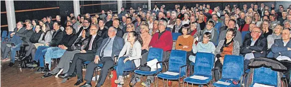
POLYGON ((154 33, 148 45, 152 47, 162 48, 163 51, 172 50, 173 47, 172 33, 165 30, 165 32, 160 36, 159 39, 158 34, 159 33, 154 33))

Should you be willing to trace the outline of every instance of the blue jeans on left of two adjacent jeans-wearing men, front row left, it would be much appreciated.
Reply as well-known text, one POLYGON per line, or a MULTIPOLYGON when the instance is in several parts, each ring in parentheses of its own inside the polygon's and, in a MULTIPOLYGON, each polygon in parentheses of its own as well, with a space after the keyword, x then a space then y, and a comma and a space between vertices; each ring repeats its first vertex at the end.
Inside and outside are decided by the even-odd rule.
POLYGON ((48 47, 49 46, 38 46, 35 51, 34 60, 39 60, 39 67, 44 67, 43 55, 45 54, 48 47))

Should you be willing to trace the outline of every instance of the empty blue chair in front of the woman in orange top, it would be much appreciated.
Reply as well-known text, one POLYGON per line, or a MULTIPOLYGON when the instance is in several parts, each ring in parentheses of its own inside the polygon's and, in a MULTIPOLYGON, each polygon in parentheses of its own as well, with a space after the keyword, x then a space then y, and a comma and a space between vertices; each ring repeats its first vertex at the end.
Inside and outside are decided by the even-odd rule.
MULTIPOLYGON (((178 73, 178 75, 168 75, 164 73, 157 74, 157 78, 162 78, 168 80, 178 80, 186 75, 186 58, 187 52, 183 50, 172 50, 169 58, 169 69, 167 72, 178 73)), ((158 85, 156 81, 156 85, 158 85)), ((163 81, 164 84, 164 81, 163 81)), ((165 84, 164 84, 165 85, 165 84)), ((179 84, 180 87, 180 84, 179 84)))

